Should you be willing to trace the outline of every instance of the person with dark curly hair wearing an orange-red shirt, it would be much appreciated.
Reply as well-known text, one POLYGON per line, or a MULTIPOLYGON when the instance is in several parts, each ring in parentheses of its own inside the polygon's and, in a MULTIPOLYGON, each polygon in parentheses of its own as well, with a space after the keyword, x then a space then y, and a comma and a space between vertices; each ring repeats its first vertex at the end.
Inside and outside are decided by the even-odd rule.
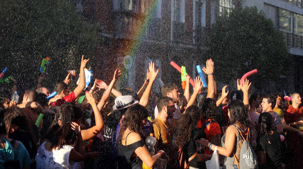
MULTIPOLYGON (((206 140, 215 145, 220 145, 221 127, 217 122, 218 108, 215 99, 203 98, 199 103, 201 110, 202 125, 206 133, 206 140)), ((212 155, 213 151, 205 148, 205 154, 212 155)))

